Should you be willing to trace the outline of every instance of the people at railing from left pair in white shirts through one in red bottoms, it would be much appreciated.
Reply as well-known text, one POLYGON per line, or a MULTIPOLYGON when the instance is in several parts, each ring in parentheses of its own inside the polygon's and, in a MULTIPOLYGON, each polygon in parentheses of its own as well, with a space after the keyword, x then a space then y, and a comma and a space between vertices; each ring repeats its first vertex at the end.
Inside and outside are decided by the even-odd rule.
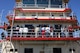
POLYGON ((37 37, 38 35, 43 35, 43 36, 44 35, 47 35, 47 36, 53 35, 53 27, 52 26, 51 27, 49 27, 49 26, 46 26, 46 27, 36 26, 33 29, 29 29, 28 27, 17 26, 16 30, 17 30, 17 32, 22 33, 22 34, 26 34, 26 35, 29 33, 34 34, 35 37, 37 37))

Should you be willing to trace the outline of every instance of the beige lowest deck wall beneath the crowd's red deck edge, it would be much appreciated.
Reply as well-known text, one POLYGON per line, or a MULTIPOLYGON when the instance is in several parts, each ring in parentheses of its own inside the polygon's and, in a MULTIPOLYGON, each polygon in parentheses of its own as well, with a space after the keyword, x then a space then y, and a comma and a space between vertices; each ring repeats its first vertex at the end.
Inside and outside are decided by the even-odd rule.
MULTIPOLYGON (((79 41, 80 42, 80 41, 79 41)), ((79 53, 78 41, 12 41, 3 53, 79 53)), ((6 43, 5 43, 6 44, 6 43)))

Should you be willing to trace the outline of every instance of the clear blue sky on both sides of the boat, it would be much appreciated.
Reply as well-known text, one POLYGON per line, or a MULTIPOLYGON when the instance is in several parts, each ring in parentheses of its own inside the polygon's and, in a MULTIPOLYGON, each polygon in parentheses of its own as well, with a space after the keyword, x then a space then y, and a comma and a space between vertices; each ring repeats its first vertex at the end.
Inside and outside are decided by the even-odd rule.
MULTIPOLYGON (((2 14, 0 20, 2 22, 8 22, 8 20, 6 19, 6 15, 8 14, 9 11, 13 10, 14 6, 15 0, 0 0, 0 15, 2 14), (3 13, 1 13, 2 11, 3 13)), ((77 19, 80 23, 80 0, 70 0, 69 7, 76 14, 77 19)), ((0 32, 2 31, 0 30, 0 32)))

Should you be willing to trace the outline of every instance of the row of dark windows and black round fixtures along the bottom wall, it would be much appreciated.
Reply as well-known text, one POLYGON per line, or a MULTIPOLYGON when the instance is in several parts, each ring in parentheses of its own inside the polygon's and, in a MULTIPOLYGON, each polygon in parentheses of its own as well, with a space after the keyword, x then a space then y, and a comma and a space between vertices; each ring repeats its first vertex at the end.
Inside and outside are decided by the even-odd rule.
MULTIPOLYGON (((14 49, 10 49, 11 52, 14 52, 13 51, 14 49)), ((75 52, 75 49, 69 49, 69 52, 75 52)), ((17 52, 17 49, 15 49, 15 52, 17 52)), ((24 53, 33 53, 33 48, 24 48, 24 53)), ((45 53, 45 51, 40 51, 40 53, 45 53)), ((62 53, 62 49, 61 48, 53 48, 53 53, 62 53)))

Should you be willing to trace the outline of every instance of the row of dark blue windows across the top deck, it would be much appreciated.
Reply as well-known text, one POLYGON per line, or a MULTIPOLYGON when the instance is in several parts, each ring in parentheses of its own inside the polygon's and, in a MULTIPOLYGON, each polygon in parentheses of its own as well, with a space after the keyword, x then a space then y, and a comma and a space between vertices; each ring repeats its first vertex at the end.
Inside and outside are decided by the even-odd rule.
POLYGON ((23 0, 23 4, 49 4, 52 5, 61 5, 62 0, 23 0))

